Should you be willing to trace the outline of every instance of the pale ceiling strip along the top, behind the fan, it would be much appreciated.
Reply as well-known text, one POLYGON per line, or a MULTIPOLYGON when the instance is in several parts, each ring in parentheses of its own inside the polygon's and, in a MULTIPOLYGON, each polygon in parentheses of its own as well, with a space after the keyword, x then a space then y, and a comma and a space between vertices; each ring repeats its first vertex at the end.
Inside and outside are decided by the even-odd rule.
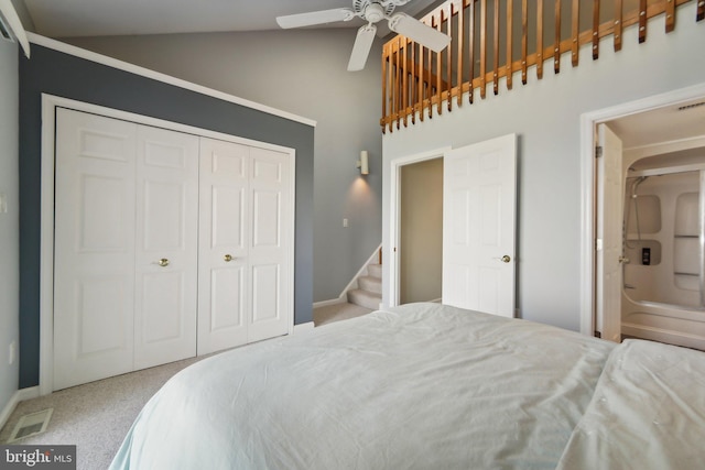
MULTIPOLYGON (((48 37, 276 30, 275 18, 351 8, 352 0, 23 0, 36 33, 48 37)), ((398 7, 419 18, 443 0, 398 7)), ((330 26, 361 25, 361 20, 330 26)), ((380 24, 381 26, 381 24, 380 24)), ((381 32, 387 34, 389 30, 381 32)))

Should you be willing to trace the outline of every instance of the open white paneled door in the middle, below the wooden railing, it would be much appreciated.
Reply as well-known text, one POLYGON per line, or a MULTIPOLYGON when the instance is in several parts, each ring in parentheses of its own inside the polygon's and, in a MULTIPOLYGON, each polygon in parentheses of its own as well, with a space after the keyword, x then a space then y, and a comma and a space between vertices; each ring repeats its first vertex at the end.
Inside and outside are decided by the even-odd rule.
POLYGON ((444 304, 514 316, 516 147, 510 134, 444 156, 444 304))

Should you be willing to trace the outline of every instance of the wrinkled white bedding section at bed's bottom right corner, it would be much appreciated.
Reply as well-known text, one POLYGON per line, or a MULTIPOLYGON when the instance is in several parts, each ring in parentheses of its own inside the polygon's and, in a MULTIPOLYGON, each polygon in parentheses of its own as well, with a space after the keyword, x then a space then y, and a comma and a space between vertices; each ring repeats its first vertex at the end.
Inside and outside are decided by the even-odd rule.
POLYGON ((610 354, 560 470, 705 468, 705 353, 626 340, 610 354))

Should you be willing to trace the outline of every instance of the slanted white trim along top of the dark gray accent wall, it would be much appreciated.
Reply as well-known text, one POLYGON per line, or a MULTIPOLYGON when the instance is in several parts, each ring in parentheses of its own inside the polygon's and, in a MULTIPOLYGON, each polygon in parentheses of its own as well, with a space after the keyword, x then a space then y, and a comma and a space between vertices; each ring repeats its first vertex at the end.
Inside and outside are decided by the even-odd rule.
POLYGON ((235 105, 240 105, 247 108, 256 109, 258 111, 267 112, 268 114, 289 119, 290 121, 301 122, 302 124, 316 127, 316 121, 312 119, 303 118, 301 116, 296 116, 291 112, 286 112, 276 108, 271 108, 269 106, 260 105, 258 102, 250 101, 245 98, 239 98, 237 96, 229 95, 223 91, 218 91, 213 88, 204 87, 202 85, 193 84, 191 81, 186 81, 181 78, 172 77, 171 75, 162 74, 160 72, 154 72, 145 67, 140 67, 139 65, 134 65, 128 62, 119 61, 117 58, 108 57, 106 55, 98 54, 91 51, 86 51, 84 48, 80 48, 70 44, 62 43, 59 41, 52 40, 45 36, 41 36, 35 33, 28 32, 28 37, 30 42, 33 44, 44 46, 57 52, 62 52, 64 54, 73 55, 75 57, 85 58, 86 61, 95 62, 96 64, 107 65, 108 67, 129 72, 131 74, 140 75, 145 78, 151 78, 153 80, 162 81, 169 85, 174 85, 180 88, 196 91, 200 95, 207 95, 214 98, 221 99, 224 101, 232 102, 235 105))

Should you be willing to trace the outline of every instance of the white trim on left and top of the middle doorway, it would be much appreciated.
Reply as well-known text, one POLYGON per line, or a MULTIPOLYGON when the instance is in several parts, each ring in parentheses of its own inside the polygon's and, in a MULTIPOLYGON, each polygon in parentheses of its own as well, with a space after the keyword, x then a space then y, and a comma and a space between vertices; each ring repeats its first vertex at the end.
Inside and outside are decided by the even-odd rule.
MULTIPOLYGON (((401 167, 404 165, 411 165, 413 163, 424 162, 426 160, 434 159, 443 159, 446 152, 453 150, 452 146, 442 146, 438 149, 429 150, 421 153, 415 153, 413 155, 400 156, 390 162, 390 172, 389 179, 387 184, 389 184, 389 194, 392 204, 389 209, 389 250, 387 259, 389 262, 387 263, 389 267, 387 269, 387 273, 389 273, 389 283, 387 284, 388 300, 384 305, 389 307, 395 307, 399 305, 399 283, 397 280, 399 278, 399 258, 397 256, 397 252, 394 249, 399 247, 401 233, 399 233, 399 204, 401 198, 401 167)), ((380 306, 381 308, 382 306, 380 306)))

